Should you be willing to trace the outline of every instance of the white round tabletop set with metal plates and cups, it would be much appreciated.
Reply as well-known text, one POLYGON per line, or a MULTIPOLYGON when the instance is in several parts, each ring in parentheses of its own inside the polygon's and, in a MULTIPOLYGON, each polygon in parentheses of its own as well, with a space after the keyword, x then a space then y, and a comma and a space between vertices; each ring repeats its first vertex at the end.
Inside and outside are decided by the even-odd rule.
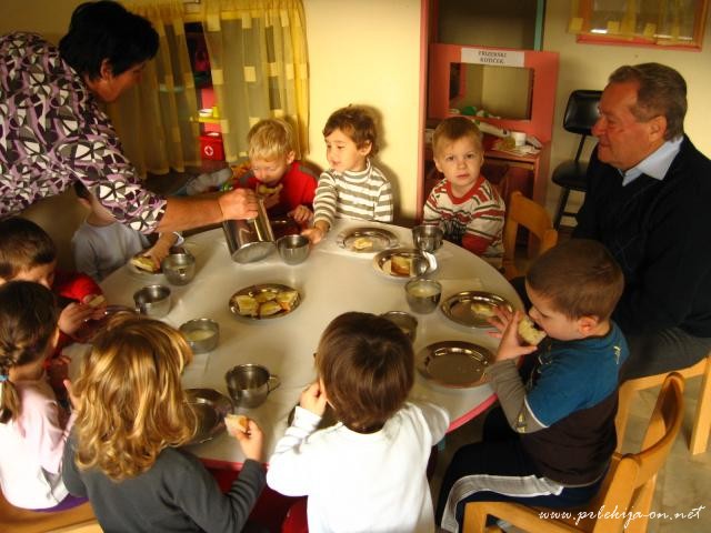
MULTIPOLYGON (((398 237, 400 247, 412 247, 410 229, 340 220, 299 265, 286 264, 277 251, 259 262, 240 264, 231 260, 222 230, 218 229, 187 240, 186 247, 197 258, 194 280, 187 285, 170 285, 162 274, 143 274, 126 265, 107 278, 101 286, 109 303, 133 306, 134 291, 152 283, 166 284, 172 291, 172 308, 163 321, 178 328, 191 319, 209 318, 220 324, 218 348, 196 355, 186 369, 182 381, 187 389, 210 388, 227 395, 224 373, 240 363, 262 364, 279 376, 281 385, 261 406, 238 410, 262 428, 264 456, 269 457, 277 440, 286 431, 287 419, 301 391, 316 378, 313 353, 322 331, 343 312, 410 312, 419 322, 415 354, 439 341, 468 341, 495 351, 498 340, 488 335, 485 330, 457 324, 439 309, 429 314, 411 312, 405 301, 403 280, 377 271, 372 263, 373 253, 356 253, 338 247, 337 235, 357 227, 385 228, 398 237), (290 314, 273 319, 252 320, 232 314, 230 296, 260 283, 280 283, 297 289, 302 302, 290 314)), ((521 308, 521 301, 509 282, 477 255, 445 242, 435 257, 438 270, 428 278, 441 282, 442 301, 461 291, 484 290, 521 308)), ((450 390, 434 385, 419 374, 412 398, 445 408, 451 418, 450 430, 471 420, 495 400, 488 384, 450 390)), ((191 449, 213 466, 239 464, 244 459, 238 443, 226 433, 191 449)))

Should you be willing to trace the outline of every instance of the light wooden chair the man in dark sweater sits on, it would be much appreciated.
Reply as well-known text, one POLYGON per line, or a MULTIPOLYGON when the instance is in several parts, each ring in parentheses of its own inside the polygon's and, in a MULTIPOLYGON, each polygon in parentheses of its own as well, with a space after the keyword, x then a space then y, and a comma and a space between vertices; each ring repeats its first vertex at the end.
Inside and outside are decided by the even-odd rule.
MULTIPOLYGON (((689 451, 692 455, 695 455, 697 453, 707 451, 709 433, 711 432, 711 353, 697 364, 678 370, 677 372, 683 375, 685 380, 701 376, 697 413, 689 438, 689 451)), ((665 378, 667 374, 649 375, 638 378, 637 380, 628 380, 620 385, 620 405, 615 421, 618 429, 618 452, 621 451, 622 443, 624 442, 624 431, 627 429, 627 421, 630 415, 630 406, 634 393, 652 386, 659 386, 664 382, 665 378)))

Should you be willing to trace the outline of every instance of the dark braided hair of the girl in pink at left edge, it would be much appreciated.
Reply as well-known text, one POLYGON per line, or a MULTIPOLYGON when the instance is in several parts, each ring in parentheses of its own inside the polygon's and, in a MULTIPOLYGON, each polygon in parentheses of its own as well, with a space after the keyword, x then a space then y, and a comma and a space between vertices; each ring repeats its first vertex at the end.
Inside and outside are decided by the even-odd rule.
POLYGON ((0 286, 0 423, 20 414, 20 398, 10 369, 32 363, 48 353, 59 313, 54 294, 30 281, 0 286))

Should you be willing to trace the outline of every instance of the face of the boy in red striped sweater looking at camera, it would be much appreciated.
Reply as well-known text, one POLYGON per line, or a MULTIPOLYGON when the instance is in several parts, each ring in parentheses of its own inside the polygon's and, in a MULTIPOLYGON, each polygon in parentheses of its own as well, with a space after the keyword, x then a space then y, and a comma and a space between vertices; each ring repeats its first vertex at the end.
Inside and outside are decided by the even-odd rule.
POLYGON ((452 192, 463 197, 479 178, 483 155, 469 137, 455 141, 442 141, 434 155, 437 170, 450 182, 452 192))

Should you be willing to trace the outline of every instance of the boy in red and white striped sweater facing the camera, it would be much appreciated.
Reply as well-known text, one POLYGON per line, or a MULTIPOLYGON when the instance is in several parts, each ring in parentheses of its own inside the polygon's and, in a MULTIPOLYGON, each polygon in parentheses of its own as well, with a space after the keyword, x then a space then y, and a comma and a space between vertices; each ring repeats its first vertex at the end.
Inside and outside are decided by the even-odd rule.
POLYGON ((423 221, 438 223, 448 241, 500 268, 505 207, 481 173, 484 149, 479 128, 463 117, 445 119, 434 130, 432 150, 444 179, 427 199, 423 221))

